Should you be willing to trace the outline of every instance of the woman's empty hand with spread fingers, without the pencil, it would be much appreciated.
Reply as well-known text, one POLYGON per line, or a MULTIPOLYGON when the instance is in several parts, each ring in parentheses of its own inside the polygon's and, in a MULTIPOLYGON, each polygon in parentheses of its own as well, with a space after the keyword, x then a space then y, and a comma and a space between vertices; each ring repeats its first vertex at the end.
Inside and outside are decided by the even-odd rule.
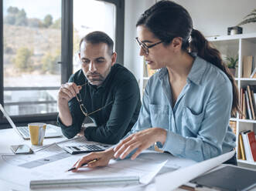
POLYGON ((131 151, 137 149, 131 156, 131 159, 136 159, 142 150, 148 149, 155 142, 161 142, 162 145, 166 142, 166 129, 149 128, 128 136, 114 148, 114 157, 125 159, 131 151))

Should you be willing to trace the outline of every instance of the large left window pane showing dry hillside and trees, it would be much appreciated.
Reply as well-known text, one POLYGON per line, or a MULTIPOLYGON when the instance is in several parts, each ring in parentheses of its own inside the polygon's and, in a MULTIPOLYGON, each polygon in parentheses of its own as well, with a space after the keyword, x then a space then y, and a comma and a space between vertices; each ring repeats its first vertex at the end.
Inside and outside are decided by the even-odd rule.
POLYGON ((61 0, 4 0, 4 105, 11 116, 56 112, 61 0))

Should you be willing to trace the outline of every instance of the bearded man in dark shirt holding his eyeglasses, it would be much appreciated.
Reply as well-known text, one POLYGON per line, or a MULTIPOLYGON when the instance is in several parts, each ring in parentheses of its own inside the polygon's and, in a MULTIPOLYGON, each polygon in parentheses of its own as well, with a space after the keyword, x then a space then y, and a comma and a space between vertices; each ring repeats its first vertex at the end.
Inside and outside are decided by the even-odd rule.
POLYGON ((115 64, 114 42, 104 32, 90 32, 80 41, 81 68, 61 85, 58 122, 67 138, 117 143, 138 119, 138 83, 124 66, 115 64), (81 128, 86 116, 96 127, 81 128))

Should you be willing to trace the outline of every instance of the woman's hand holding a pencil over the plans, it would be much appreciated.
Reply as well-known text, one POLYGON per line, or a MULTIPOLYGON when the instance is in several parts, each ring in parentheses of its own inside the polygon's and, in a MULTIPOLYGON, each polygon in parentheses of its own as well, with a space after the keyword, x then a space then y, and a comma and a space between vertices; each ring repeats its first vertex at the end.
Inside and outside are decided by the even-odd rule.
POLYGON ((82 167, 84 163, 88 163, 94 159, 97 159, 97 161, 93 163, 88 163, 87 166, 89 168, 94 168, 97 166, 107 166, 110 159, 114 158, 114 150, 112 148, 101 151, 101 152, 90 152, 87 156, 84 156, 82 159, 78 160, 77 163, 73 165, 73 167, 76 167, 72 172, 77 172, 77 169, 82 167))

